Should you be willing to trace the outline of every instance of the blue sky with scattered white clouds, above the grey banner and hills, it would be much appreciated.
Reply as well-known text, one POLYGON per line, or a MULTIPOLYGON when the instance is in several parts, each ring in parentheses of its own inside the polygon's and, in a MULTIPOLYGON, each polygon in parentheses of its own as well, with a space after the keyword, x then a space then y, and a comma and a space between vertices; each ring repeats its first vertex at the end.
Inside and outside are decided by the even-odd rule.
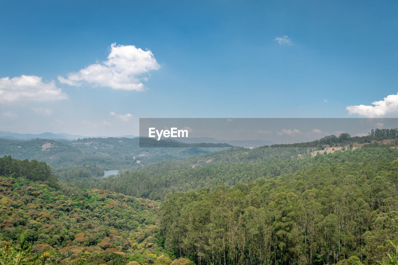
POLYGON ((398 117, 396 1, 0 5, 0 131, 119 136, 151 117, 398 117))

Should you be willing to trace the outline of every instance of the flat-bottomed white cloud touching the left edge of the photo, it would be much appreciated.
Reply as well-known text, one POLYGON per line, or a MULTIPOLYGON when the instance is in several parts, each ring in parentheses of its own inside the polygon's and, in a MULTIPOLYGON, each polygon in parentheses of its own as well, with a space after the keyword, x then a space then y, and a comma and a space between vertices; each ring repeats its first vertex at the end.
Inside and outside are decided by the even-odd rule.
POLYGON ((39 76, 0 78, 0 102, 56 101, 68 99, 68 95, 55 86, 54 80, 45 83, 39 76))

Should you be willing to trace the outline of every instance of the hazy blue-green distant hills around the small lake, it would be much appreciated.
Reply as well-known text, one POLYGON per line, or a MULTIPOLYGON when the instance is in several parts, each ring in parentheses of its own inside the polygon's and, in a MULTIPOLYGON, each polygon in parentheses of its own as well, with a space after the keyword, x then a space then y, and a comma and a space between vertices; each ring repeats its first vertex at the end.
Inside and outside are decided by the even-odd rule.
POLYGON ((60 180, 74 183, 82 179, 96 181, 96 177, 103 175, 104 170, 131 170, 160 160, 179 160, 225 149, 182 145, 191 147, 170 142, 169 148, 140 148, 138 137, 84 138, 75 141, 0 139, 0 157, 11 155, 21 160, 44 161, 55 170, 60 180))

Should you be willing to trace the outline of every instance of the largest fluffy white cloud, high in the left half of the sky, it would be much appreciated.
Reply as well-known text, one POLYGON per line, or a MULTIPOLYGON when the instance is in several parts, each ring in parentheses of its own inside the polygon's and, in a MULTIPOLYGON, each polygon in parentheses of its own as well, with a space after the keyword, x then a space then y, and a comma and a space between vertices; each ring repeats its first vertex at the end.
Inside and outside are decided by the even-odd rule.
POLYGON ((94 86, 142 91, 144 84, 141 81, 148 80, 143 75, 159 68, 160 64, 150 50, 143 51, 134 45, 113 43, 106 61, 69 73, 66 78, 58 76, 58 80, 70 86, 80 86, 82 82, 87 82, 94 86))

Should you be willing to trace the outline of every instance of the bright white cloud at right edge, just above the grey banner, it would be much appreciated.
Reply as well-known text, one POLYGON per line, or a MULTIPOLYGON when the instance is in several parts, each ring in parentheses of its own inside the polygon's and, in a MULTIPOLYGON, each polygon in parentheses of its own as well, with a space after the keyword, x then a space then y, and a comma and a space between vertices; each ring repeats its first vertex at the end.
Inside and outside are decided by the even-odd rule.
POLYGON ((383 100, 372 102, 375 106, 355 105, 347 106, 345 109, 348 114, 359 114, 361 116, 373 118, 381 117, 389 113, 398 113, 398 94, 388 95, 383 100))

